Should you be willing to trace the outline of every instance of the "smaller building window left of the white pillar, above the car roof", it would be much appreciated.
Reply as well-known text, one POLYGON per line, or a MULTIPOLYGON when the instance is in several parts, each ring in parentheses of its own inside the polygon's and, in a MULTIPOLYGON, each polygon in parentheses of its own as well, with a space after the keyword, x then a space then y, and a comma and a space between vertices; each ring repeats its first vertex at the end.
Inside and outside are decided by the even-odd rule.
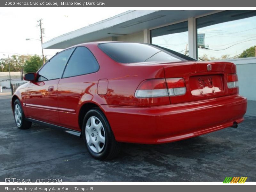
POLYGON ((150 30, 151 43, 188 55, 188 21, 150 30))

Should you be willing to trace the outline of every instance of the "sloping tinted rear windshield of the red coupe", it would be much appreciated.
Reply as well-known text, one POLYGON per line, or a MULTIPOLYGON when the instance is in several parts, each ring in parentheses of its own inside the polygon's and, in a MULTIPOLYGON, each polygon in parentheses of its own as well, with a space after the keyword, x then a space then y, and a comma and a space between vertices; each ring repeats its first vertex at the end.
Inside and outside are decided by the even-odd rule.
POLYGON ((98 45, 109 57, 119 63, 138 63, 149 61, 191 61, 181 53, 152 44, 140 43, 102 43, 98 45))

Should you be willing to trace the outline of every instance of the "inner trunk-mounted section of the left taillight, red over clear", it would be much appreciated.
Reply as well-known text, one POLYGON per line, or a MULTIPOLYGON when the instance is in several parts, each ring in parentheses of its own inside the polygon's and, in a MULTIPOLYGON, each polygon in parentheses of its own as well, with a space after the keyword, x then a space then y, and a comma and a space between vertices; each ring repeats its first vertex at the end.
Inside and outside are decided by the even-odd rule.
POLYGON ((186 84, 183 78, 168 78, 166 83, 170 96, 184 95, 186 93, 186 84))

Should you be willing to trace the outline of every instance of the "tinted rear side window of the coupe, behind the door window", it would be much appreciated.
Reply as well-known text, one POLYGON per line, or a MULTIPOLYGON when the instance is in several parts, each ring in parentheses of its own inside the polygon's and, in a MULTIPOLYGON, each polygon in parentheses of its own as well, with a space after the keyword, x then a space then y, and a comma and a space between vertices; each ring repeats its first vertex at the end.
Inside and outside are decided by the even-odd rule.
POLYGON ((68 61, 63 78, 94 73, 99 64, 92 52, 86 47, 77 47, 68 61))

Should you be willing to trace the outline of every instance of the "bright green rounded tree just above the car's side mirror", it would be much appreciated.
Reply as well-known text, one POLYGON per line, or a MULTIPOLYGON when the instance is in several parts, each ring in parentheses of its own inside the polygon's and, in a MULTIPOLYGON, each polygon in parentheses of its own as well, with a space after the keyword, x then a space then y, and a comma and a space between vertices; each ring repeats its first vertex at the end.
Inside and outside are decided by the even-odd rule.
POLYGON ((28 60, 26 60, 24 71, 26 73, 36 73, 42 65, 43 59, 38 55, 33 55, 28 60))

